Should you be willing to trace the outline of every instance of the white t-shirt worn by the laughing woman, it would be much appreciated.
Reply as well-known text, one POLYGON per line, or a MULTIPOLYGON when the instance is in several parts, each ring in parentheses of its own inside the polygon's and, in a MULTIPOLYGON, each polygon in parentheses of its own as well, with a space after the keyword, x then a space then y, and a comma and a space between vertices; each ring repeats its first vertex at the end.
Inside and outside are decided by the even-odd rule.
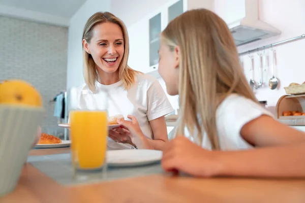
MULTIPOLYGON (((99 93, 92 94, 87 85, 83 84, 77 89, 77 109, 95 109, 95 106, 98 106, 97 109, 104 109, 107 100, 108 116, 122 114, 129 120, 127 115, 133 115, 138 120, 144 136, 153 139, 149 121, 174 111, 159 81, 147 74, 137 74, 135 83, 129 90, 120 85, 121 81, 111 85, 98 83, 99 93), (101 90, 107 90, 111 99, 105 99, 105 91, 101 90)), ((131 149, 132 146, 116 143, 108 138, 108 148, 131 149)))

